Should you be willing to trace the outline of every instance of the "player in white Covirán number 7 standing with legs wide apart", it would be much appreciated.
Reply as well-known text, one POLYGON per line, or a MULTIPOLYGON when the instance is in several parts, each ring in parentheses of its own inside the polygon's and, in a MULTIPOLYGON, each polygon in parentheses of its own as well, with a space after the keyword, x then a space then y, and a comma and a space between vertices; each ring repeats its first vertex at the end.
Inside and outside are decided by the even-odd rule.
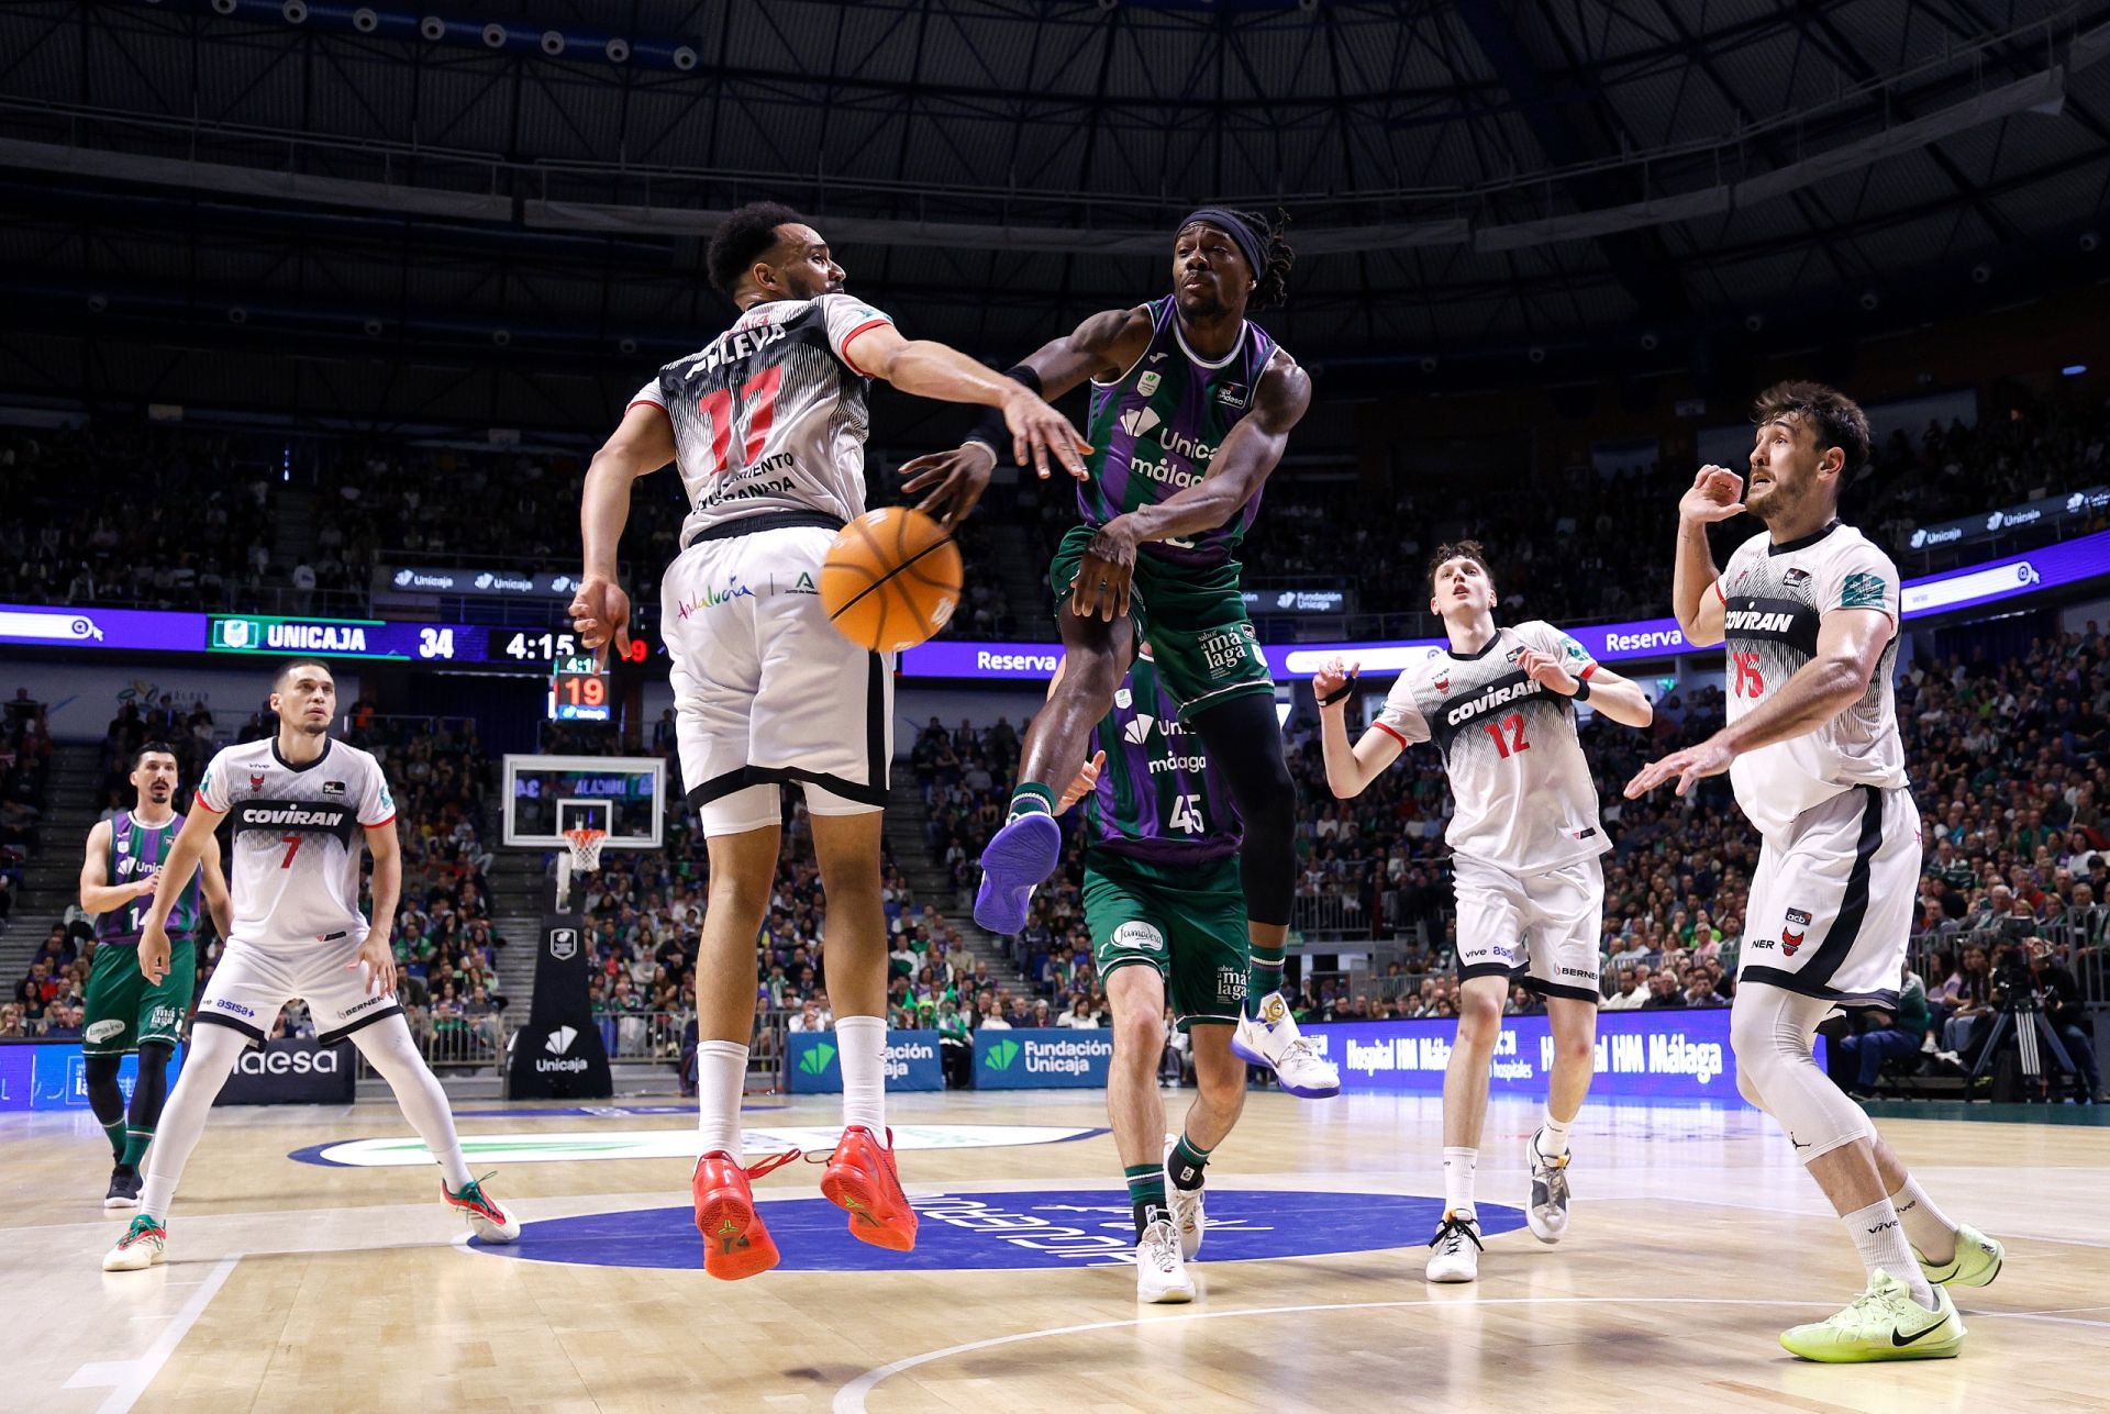
POLYGON ((205 1116, 251 1043, 264 1045, 279 1009, 308 1002, 316 1040, 350 1036, 388 1081, 403 1119, 439 1161, 441 1197, 483 1241, 511 1243, 519 1224, 462 1163, 454 1112, 418 1053, 395 998, 388 931, 403 893, 395 800, 382 766, 333 741, 338 684, 312 658, 287 663, 270 694, 279 734, 217 753, 198 781, 196 804, 160 865, 154 905, 141 922, 139 971, 158 983, 169 971, 169 912, 184 897, 219 821, 234 827, 234 929, 205 983, 190 1028, 190 1053, 146 1150, 139 1216, 103 1256, 103 1270, 146 1270, 169 1241, 169 1201, 205 1116), (373 924, 359 912, 359 848, 373 851, 373 924))

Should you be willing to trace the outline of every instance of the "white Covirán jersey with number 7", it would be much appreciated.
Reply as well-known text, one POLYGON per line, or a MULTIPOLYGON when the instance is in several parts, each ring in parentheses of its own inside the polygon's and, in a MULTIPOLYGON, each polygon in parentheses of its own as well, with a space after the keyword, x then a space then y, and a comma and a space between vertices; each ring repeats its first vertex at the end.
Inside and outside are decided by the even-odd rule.
POLYGON ((234 823, 228 893, 234 943, 333 941, 365 935, 359 851, 365 829, 395 819, 388 779, 371 753, 329 741, 289 764, 279 739, 228 747, 198 781, 198 806, 234 823))

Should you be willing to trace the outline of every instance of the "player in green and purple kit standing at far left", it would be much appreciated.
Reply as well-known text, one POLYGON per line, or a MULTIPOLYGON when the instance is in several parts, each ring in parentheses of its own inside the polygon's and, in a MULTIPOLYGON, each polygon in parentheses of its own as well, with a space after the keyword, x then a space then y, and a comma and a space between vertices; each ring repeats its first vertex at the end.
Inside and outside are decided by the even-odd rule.
POLYGON ((219 840, 207 842, 198 878, 190 880, 169 914, 169 975, 148 981, 139 973, 139 924, 154 905, 160 861, 175 844, 184 817, 175 813, 177 762, 167 741, 150 741, 133 756, 133 808, 97 821, 80 863, 80 910, 95 920, 95 962, 82 998, 80 1053, 89 1108, 110 1135, 116 1169, 103 1207, 139 1207, 139 1159, 154 1142, 160 1106, 169 1097, 169 1059, 190 1013, 198 977, 198 933, 205 907, 213 910, 219 937, 234 926, 228 878, 219 872, 219 840), (203 905, 200 907, 200 897, 203 905), (131 1112, 118 1089, 118 1066, 139 1053, 139 1081, 131 1112))

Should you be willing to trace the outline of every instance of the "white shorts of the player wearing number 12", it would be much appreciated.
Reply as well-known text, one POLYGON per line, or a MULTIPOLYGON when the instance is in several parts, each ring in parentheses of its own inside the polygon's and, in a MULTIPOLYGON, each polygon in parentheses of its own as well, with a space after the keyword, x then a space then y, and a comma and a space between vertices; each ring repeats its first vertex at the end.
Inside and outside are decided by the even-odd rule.
POLYGON ((1604 861, 1597 855, 1536 874, 1452 857, 1458 884, 1458 977, 1511 977, 1540 996, 1597 994, 1604 861))

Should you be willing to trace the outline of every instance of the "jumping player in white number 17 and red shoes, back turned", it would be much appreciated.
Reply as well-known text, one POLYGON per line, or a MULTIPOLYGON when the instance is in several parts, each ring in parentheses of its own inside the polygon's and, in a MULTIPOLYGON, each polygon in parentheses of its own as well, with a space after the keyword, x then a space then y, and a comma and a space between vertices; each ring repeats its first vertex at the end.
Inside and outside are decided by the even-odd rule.
MULTIPOLYGON (((821 1192, 850 1233, 916 1245, 886 1129, 886 918, 880 808, 893 760, 893 654, 836 633, 817 597, 833 534, 865 511, 865 390, 884 378, 918 397, 1000 407, 1019 462, 1082 475, 1089 452, 1021 384, 842 291, 842 266, 795 211, 757 203, 711 238, 711 283, 741 317, 658 371, 587 471, 587 568, 572 625, 589 648, 622 646, 629 595, 616 540, 631 483, 675 462, 692 507, 663 582, 675 739, 688 802, 709 840, 711 895, 696 967, 703 1159, 690 1180, 705 1270, 728 1281, 776 1264, 743 1169, 741 1089, 755 1026, 755 933, 776 874, 779 785, 800 785, 827 891, 827 992, 842 1055, 842 1140, 821 1192)), ((924 509, 966 515, 987 471, 941 485, 924 509)))

